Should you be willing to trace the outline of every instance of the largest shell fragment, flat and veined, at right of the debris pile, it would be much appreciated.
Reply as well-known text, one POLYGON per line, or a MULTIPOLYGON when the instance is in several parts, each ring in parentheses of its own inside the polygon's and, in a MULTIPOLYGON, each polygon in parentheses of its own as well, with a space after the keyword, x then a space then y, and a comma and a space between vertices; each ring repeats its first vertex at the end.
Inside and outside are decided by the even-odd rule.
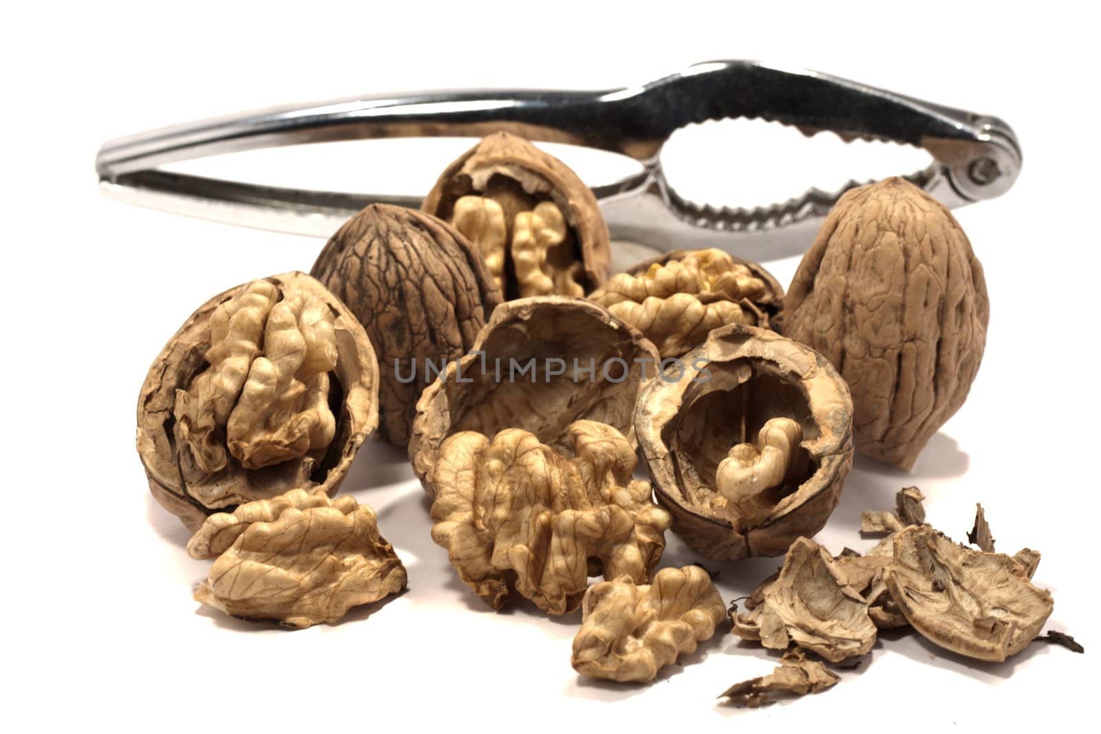
POLYGON ((927 525, 894 537, 886 585, 911 625, 960 655, 1002 661, 1039 634, 1051 594, 1002 554, 953 544, 927 525))

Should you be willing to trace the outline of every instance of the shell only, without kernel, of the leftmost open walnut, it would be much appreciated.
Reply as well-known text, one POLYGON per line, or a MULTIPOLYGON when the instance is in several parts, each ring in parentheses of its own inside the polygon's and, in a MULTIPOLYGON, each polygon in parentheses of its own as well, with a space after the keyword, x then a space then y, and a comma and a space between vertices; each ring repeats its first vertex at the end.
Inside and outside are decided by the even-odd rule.
MULTIPOLYGON (((284 273, 246 283, 199 307, 173 335, 149 370, 138 401, 138 453, 153 496, 193 533, 207 516, 266 500, 295 489, 320 487, 334 494, 359 447, 379 423, 379 372, 374 350, 356 317, 325 286, 305 273, 284 273), (319 452, 260 469, 247 469, 227 453, 224 469, 207 472, 189 445, 178 438, 177 393, 207 370, 211 316, 257 284, 271 284, 279 297, 318 298, 331 314, 336 363, 328 373, 328 408, 335 418, 331 440, 319 452)), ((220 440, 225 442, 225 436, 220 440)))

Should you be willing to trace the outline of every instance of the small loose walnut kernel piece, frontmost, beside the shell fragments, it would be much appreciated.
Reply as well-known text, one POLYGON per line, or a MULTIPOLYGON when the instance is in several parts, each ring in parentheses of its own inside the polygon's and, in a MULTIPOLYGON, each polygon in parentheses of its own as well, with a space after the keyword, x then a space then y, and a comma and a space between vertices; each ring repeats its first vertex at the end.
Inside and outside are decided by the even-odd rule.
POLYGON ((570 664, 582 676, 647 682, 715 635, 726 606, 707 571, 665 568, 650 585, 629 578, 589 587, 570 664))

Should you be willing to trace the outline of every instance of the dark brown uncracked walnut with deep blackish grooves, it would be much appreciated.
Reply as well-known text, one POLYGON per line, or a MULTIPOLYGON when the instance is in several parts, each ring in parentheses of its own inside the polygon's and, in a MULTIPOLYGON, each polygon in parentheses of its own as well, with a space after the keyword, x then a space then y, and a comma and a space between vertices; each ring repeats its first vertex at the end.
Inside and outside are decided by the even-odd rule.
POLYGON ((380 432, 405 446, 433 369, 465 354, 501 302, 489 267, 435 217, 373 204, 329 239, 310 273, 367 329, 382 376, 380 432))

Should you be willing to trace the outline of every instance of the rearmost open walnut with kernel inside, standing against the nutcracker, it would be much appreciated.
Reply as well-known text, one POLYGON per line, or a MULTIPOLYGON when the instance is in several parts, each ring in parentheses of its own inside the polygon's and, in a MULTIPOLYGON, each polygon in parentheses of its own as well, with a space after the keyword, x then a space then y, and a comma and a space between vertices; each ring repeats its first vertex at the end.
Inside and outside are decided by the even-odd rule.
POLYGON ((608 277, 608 228, 592 191, 523 138, 482 139, 444 171, 423 209, 470 238, 506 299, 582 296, 608 277))

